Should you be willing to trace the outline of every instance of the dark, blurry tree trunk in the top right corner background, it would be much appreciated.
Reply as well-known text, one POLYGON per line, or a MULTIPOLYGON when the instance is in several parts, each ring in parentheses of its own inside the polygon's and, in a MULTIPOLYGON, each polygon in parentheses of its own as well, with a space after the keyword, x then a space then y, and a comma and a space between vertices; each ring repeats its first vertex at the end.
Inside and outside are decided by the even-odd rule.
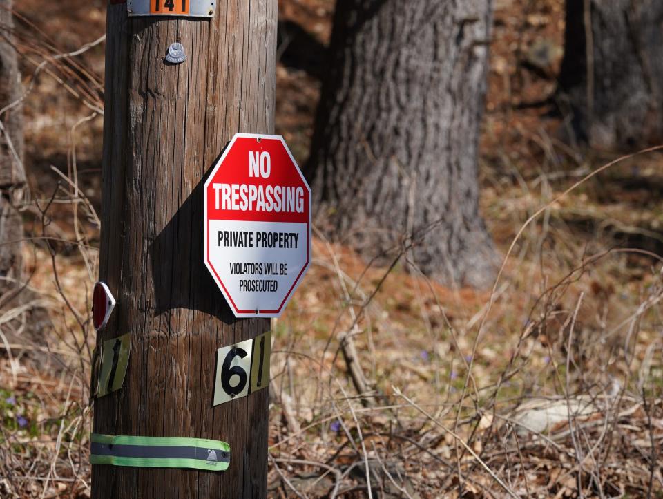
POLYGON ((576 140, 602 149, 663 140, 662 26, 659 0, 567 0, 560 89, 576 140))

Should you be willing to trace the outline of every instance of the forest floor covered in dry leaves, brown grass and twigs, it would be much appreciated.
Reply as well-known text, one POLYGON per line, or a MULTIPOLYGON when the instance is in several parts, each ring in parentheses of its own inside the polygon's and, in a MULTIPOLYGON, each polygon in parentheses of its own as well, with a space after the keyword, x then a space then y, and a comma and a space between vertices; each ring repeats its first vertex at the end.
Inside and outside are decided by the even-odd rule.
MULTIPOLYGON (((301 164, 334 2, 279 3, 276 131, 301 164)), ((663 498, 662 156, 587 178, 618 156, 559 139, 564 1, 496 3, 480 180, 503 272, 445 288, 315 238, 275 326, 272 497, 663 498)), ((19 5, 31 301, 0 317, 2 498, 90 496, 104 11, 19 5)))

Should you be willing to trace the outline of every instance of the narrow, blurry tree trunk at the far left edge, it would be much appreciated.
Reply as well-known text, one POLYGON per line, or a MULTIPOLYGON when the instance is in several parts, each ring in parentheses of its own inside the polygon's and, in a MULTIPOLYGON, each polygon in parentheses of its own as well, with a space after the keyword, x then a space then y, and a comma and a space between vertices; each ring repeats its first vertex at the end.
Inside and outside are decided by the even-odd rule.
POLYGON ((23 218, 23 108, 21 75, 14 49, 12 1, 0 0, 0 308, 21 289, 23 218), (10 106, 10 107, 8 107, 10 106), (16 241, 10 243, 10 241, 16 241))

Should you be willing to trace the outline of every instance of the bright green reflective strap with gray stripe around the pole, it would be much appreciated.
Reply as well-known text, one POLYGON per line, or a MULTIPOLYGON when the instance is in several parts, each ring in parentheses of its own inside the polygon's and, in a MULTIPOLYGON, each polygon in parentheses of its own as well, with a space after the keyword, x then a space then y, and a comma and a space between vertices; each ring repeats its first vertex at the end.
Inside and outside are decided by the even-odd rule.
POLYGON ((93 433, 90 438, 90 462, 113 466, 224 471, 230 463, 230 446, 226 442, 205 438, 93 433))

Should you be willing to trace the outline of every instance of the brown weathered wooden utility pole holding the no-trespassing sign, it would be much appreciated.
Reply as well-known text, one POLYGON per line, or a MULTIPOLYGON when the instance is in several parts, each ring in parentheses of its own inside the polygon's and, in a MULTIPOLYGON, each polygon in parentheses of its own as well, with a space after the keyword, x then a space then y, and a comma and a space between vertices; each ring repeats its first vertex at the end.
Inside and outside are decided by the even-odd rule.
POLYGON ((212 19, 128 17, 108 6, 99 279, 131 332, 124 386, 94 431, 230 444, 227 471, 93 466, 93 498, 267 495, 269 390, 213 407, 215 351, 269 330, 235 319, 203 263, 203 184, 236 132, 272 133, 276 0, 218 2, 212 19), (181 64, 164 62, 173 42, 181 64))

